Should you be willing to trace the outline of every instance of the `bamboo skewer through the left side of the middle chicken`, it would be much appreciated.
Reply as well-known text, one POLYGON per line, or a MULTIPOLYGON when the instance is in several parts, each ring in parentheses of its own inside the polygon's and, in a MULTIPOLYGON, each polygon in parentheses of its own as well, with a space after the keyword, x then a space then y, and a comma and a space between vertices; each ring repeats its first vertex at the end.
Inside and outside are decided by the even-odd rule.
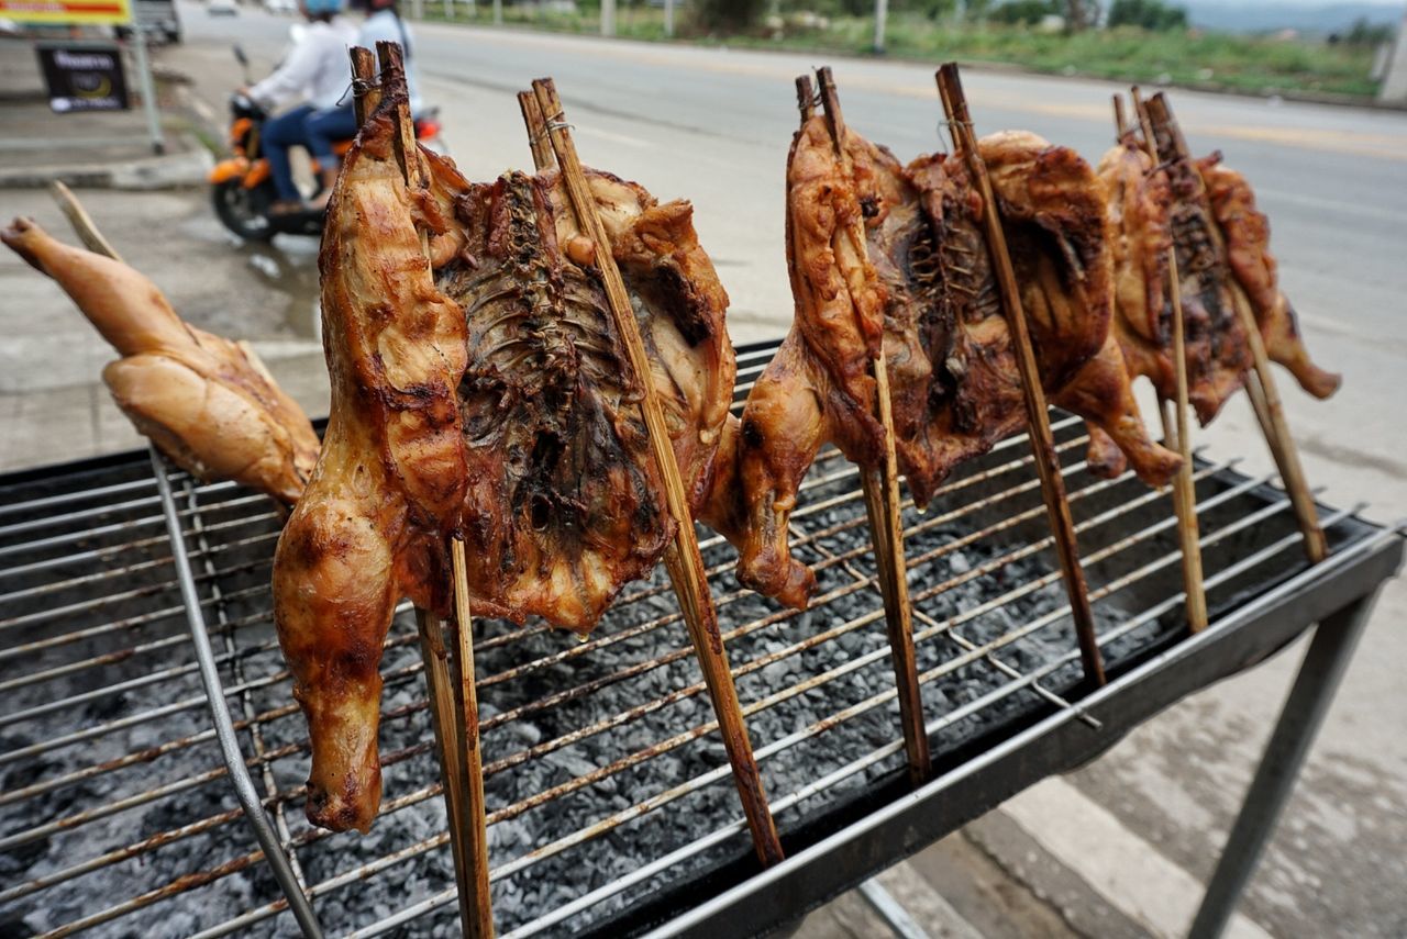
MULTIPOLYGON (((836 82, 830 67, 816 72, 820 86, 820 103, 830 129, 830 141, 836 148, 841 171, 854 183, 854 167, 846 150, 846 118, 836 94, 836 82)), ((813 114, 815 96, 810 79, 805 75, 796 79, 796 103, 802 122, 813 114)), ((854 218, 846 226, 846 238, 860 257, 868 257, 868 239, 864 221, 854 218)), ((913 651, 913 609, 909 603, 908 566, 903 564, 903 524, 899 513, 899 465, 895 455, 893 408, 889 398, 889 367, 885 361, 884 340, 879 354, 871 360, 875 377, 875 398, 879 423, 885 433, 884 467, 861 467, 860 482, 864 489, 865 513, 870 517, 870 537, 875 548, 875 562, 879 574, 879 593, 884 597, 885 631, 889 638, 889 652, 893 658, 895 687, 899 696, 899 723, 903 728, 903 746, 909 763, 909 782, 917 787, 929 779, 931 758, 929 755, 929 734, 923 720, 923 696, 919 686, 919 669, 913 651)))

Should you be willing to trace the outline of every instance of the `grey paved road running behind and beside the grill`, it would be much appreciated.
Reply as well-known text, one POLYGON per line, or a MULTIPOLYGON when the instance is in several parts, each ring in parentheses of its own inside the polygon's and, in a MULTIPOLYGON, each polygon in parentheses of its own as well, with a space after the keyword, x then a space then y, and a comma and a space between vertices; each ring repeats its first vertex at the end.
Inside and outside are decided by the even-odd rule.
MULTIPOLYGON (((183 11, 194 48, 170 55, 207 49, 197 77, 211 100, 236 82, 234 60, 211 44, 238 39, 267 63, 288 22, 259 13, 214 21, 194 4, 183 11)), ((554 76, 588 163, 658 197, 695 201, 702 240, 733 298, 736 337, 785 329, 791 80, 816 58, 456 27, 422 27, 416 56, 429 97, 445 108, 452 150, 473 177, 528 164, 512 91, 554 76)), ((858 131, 900 157, 943 146, 930 65, 832 65, 858 131)), ((986 72, 965 83, 979 132, 1029 128, 1090 159, 1110 142, 1114 86, 986 72)), ((1282 382, 1311 482, 1327 486, 1331 502, 1363 499, 1379 519, 1407 516, 1407 115, 1185 91, 1175 104, 1196 150, 1223 149, 1255 183, 1310 349, 1346 374, 1327 403, 1282 382)), ((1244 402, 1197 439, 1214 453, 1245 454, 1251 469, 1271 469, 1244 402)), ((1276 935, 1407 933, 1404 617, 1407 589, 1394 583, 1252 884, 1244 909, 1276 935)), ((1081 772, 1078 789, 1206 877, 1296 662, 1297 654, 1280 655, 1169 710, 1081 772)), ((1082 805, 1067 801, 1064 811, 1078 818, 1082 805)), ((1086 877, 1099 880, 1097 869, 1086 877)), ((1126 911, 1138 907, 1137 898, 1116 900, 1126 911)))

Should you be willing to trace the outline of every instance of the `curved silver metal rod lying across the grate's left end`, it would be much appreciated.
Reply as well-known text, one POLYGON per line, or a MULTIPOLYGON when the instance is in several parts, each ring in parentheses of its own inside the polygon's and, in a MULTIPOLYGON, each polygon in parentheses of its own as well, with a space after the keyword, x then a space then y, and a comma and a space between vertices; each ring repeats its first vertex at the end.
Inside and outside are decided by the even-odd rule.
POLYGON ((283 853, 277 832, 274 832, 273 825, 269 822, 269 817, 265 815, 259 793, 255 791, 249 769, 245 766, 243 753, 239 751, 239 738, 235 735, 229 707, 225 703, 225 690, 219 680, 219 669, 214 662, 215 652, 210 644, 210 634, 205 631, 205 617, 201 613, 200 593, 196 589, 196 579, 191 576, 190 561, 186 557, 186 538, 177 517, 170 482, 166 478, 166 458, 155 447, 151 448, 151 455, 152 471, 156 474, 156 488, 162 496, 162 512, 166 516, 166 531, 170 534, 172 559, 176 564, 176 576, 180 579, 182 599, 186 602, 186 621, 190 626, 190 640, 196 651, 196 658, 200 662, 200 679, 210 699, 210 715, 215 724, 215 735, 219 738, 219 752, 225 759, 225 769, 229 772, 229 780, 234 784, 235 796, 239 798, 239 805, 249 820, 249 827, 253 828, 255 839, 263 849, 265 857, 273 869, 274 879, 277 879, 284 897, 288 900, 288 908, 293 911, 298 928, 303 929, 304 935, 318 939, 322 936, 322 928, 312 912, 312 905, 298 886, 298 879, 293 873, 287 855, 283 853))

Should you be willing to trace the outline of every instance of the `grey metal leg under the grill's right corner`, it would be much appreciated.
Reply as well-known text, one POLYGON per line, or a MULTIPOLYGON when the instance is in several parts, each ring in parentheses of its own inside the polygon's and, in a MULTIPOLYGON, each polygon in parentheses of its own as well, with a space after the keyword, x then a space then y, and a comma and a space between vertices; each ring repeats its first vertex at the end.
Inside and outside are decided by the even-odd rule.
POLYGON ((1217 939, 1235 912, 1241 891, 1255 873, 1265 842, 1271 839, 1280 810, 1294 789, 1310 744, 1334 701, 1339 679, 1354 656, 1376 599, 1375 592, 1355 600, 1325 617, 1314 630, 1314 640, 1300 663, 1271 742, 1265 746, 1261 766, 1255 770, 1241 814, 1231 828, 1211 883, 1207 884, 1197 918, 1192 922, 1190 939, 1217 939))

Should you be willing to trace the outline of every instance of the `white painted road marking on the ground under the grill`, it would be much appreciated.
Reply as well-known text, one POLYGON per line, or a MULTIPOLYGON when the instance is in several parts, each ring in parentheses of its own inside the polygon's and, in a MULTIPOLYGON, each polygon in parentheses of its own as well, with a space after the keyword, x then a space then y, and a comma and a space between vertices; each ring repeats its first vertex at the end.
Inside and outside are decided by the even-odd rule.
MULTIPOLYGON (((1150 932, 1168 939, 1188 935, 1204 893, 1202 883, 1078 789, 1058 777, 1047 779, 1003 803, 1002 811, 1150 932)), ((1271 939, 1240 912, 1233 915, 1225 935, 1271 939)))

